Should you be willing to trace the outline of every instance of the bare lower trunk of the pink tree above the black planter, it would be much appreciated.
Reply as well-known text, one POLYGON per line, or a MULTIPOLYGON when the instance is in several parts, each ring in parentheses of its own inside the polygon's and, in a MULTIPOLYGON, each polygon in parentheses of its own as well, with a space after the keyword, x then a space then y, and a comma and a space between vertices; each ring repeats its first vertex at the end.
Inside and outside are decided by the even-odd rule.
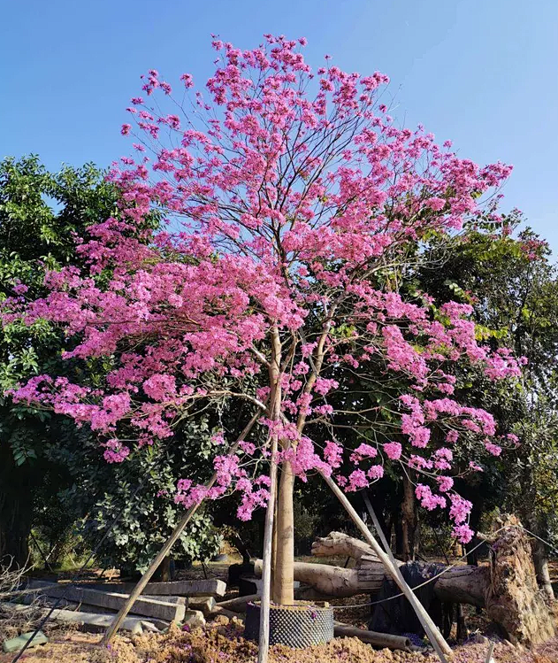
POLYGON ((273 601, 279 605, 294 603, 294 474, 286 461, 281 467, 277 505, 277 550, 273 601))

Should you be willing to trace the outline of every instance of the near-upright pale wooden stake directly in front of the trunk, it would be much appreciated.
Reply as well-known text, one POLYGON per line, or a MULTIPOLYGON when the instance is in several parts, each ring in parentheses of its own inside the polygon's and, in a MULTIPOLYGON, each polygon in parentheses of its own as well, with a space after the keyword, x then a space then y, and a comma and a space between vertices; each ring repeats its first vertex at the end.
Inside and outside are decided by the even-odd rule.
POLYGON ((262 600, 260 603, 260 636, 257 663, 267 663, 270 649, 271 565, 273 554, 273 522, 277 494, 277 437, 271 441, 270 498, 265 512, 264 558, 262 564, 262 600))

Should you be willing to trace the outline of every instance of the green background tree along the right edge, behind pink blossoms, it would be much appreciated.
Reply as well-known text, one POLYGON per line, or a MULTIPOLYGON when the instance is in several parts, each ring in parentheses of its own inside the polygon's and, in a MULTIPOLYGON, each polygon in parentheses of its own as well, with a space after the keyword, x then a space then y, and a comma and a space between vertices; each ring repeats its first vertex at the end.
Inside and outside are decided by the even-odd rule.
MULTIPOLYGON (((528 360, 515 389, 499 389, 478 372, 470 371, 465 381, 463 397, 492 405, 501 427, 513 431, 519 443, 516 451, 485 465, 484 481, 471 486, 478 491, 476 520, 483 506, 487 511, 499 506, 518 513, 537 536, 555 541, 558 281, 547 243, 523 226, 519 212, 503 224, 474 220, 452 243, 432 248, 444 268, 424 270, 420 281, 439 301, 457 297, 473 305, 478 335, 494 350, 510 347, 528 360)), ((533 546, 539 581, 552 596, 547 546, 540 541, 533 546)))

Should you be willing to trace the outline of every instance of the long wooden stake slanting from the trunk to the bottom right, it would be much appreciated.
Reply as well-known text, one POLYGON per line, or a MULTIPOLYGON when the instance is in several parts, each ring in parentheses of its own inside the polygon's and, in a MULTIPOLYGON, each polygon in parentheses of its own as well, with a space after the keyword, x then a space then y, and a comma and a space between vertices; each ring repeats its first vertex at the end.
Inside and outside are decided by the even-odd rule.
POLYGON ((409 588, 407 582, 403 580, 401 573, 398 573, 399 568, 397 567, 397 564, 394 564, 392 559, 390 559, 386 552, 382 550, 382 547, 378 544, 374 536, 372 536, 370 529, 366 527, 363 519, 355 512, 353 505, 348 501, 345 493, 340 490, 339 486, 331 477, 325 476, 325 474, 322 474, 322 476, 327 485, 333 490, 335 497, 339 499, 351 519, 355 522, 356 527, 360 530, 366 542, 371 545, 372 550, 378 555, 378 559, 384 564, 388 573, 394 578, 399 589, 409 600, 410 605, 413 607, 415 613, 417 613, 418 620, 422 624, 428 639, 432 643, 432 647, 438 654, 442 663, 447 663, 446 655, 449 656, 452 653, 449 644, 447 644, 444 636, 440 633, 440 629, 434 624, 430 615, 424 609, 424 605, 421 604, 417 596, 409 588))

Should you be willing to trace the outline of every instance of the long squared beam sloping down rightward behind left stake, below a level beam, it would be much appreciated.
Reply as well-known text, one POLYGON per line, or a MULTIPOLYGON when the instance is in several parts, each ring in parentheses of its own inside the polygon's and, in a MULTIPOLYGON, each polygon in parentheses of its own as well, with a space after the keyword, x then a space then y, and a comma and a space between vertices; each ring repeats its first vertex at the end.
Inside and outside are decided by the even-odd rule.
MULTIPOLYGON (((40 590, 43 596, 50 598, 63 597, 74 603, 98 605, 109 610, 118 611, 126 603, 126 594, 91 590, 85 587, 75 587, 70 584, 57 582, 43 582, 30 580, 32 589, 40 590)), ((186 599, 175 597, 173 601, 162 601, 156 598, 141 597, 134 603, 134 613, 144 617, 155 617, 166 621, 183 621, 186 611, 186 599)))

